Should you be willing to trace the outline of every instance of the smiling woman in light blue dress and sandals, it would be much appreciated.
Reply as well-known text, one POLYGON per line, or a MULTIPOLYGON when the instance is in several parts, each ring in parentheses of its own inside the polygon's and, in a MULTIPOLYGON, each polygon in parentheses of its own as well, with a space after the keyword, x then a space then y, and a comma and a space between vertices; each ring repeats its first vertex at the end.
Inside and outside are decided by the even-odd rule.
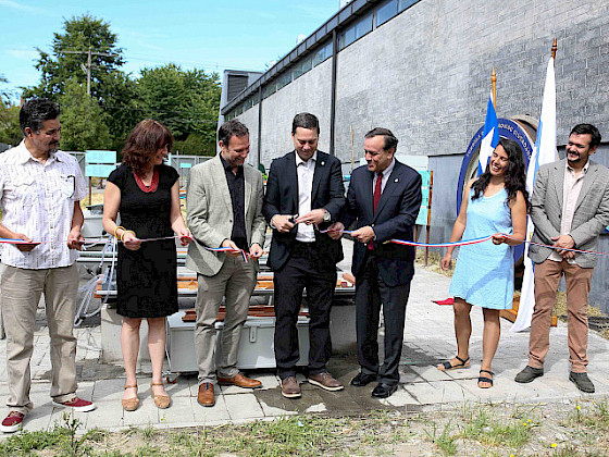
MULTIPOLYGON (((470 367, 472 306, 482 307, 484 331, 478 387, 493 386, 490 365, 499 344, 499 312, 512 307, 513 247, 524 240, 529 193, 525 168, 518 143, 500 139, 493 151, 486 171, 468 183, 459 217, 450 242, 493 235, 493 244, 462 246, 449 294, 455 297, 455 335, 457 356, 440 363, 438 370, 470 367), (510 235, 509 238, 502 234, 510 235)), ((443 270, 450 268, 453 247, 442 259, 443 270)))

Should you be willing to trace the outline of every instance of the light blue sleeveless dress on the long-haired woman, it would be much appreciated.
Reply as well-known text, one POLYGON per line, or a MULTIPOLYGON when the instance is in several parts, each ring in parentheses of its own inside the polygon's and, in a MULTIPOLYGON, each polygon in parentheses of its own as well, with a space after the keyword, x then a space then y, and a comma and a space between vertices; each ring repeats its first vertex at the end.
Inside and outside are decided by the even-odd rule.
MULTIPOLYGON (((511 234, 512 218, 506 205, 508 193, 468 201, 468 218, 462 239, 480 238, 497 232, 511 234)), ((513 247, 492 240, 461 246, 449 294, 470 305, 509 309, 513 299, 513 247)))

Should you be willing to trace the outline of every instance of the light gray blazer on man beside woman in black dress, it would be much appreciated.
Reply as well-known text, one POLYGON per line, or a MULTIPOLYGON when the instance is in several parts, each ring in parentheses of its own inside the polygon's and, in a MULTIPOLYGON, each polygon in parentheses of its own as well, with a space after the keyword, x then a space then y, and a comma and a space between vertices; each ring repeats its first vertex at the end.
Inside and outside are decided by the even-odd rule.
MULTIPOLYGON (((262 215, 262 173, 244 165, 246 236, 249 245, 264 245, 266 222, 262 215)), ((226 255, 212 252, 207 247, 220 247, 233 233, 233 203, 226 173, 220 156, 192 166, 186 197, 188 228, 195 243, 188 246, 186 268, 204 276, 216 274, 226 255)), ((258 261, 254 262, 258 271, 258 261)))

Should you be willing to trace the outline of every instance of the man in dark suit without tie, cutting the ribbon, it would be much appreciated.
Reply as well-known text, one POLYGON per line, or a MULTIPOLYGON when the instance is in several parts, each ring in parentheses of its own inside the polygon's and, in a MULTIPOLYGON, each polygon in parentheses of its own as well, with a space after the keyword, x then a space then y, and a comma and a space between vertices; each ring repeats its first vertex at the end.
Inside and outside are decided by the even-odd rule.
POLYGON ((298 332, 296 323, 307 288, 309 305, 309 382, 327 391, 343 385, 327 372, 332 354, 330 310, 336 286, 336 263, 343 260, 339 239, 327 228, 345 207, 340 161, 318 150, 318 118, 294 118, 295 150, 271 164, 264 218, 273 228, 269 265, 274 271, 275 359, 282 395, 301 396, 296 380, 298 332))

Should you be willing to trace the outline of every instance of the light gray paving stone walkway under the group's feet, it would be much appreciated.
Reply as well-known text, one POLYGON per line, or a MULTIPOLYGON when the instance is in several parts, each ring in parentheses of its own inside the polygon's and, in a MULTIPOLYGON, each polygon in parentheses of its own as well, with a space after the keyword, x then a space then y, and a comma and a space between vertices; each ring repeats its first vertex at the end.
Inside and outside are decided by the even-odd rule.
MULTIPOLYGON (((455 355, 456 343, 452 308, 435 305, 432 300, 446 298, 449 284, 450 279, 418 268, 407 309, 400 387, 386 400, 371 398, 372 384, 360 388, 349 386, 349 380, 358 372, 357 360, 353 355, 340 355, 332 359, 330 369, 346 385, 343 392, 330 393, 303 382, 302 398, 285 399, 281 396, 279 381, 274 372, 260 370, 248 374, 262 381, 261 390, 252 392, 234 386, 220 387, 213 408, 198 405, 197 378, 192 374, 181 375, 175 384, 169 385, 172 406, 165 410, 157 409, 150 398, 150 376, 147 374, 150 368, 144 365, 139 380, 141 406, 137 411, 125 412, 121 407, 124 372, 120 366, 100 362, 101 332, 98 325, 94 325, 76 330, 80 376, 78 394, 96 402, 98 409, 74 416, 83 422, 85 430, 98 427, 110 430, 149 425, 181 428, 238 423, 298 412, 352 415, 380 408, 422 410, 463 402, 536 403, 580 397, 580 392, 568 380, 567 326, 561 322, 551 330, 546 374, 531 384, 517 384, 513 381, 515 373, 526 365, 529 334, 511 333, 511 323, 502 320, 501 341, 493 367, 495 386, 488 390, 477 387, 476 378, 482 359, 482 312, 476 308, 472 310, 472 367, 449 373, 438 371, 435 366, 455 355)), ((5 354, 5 339, 0 341, 0 353, 5 354)), ((593 396, 606 396, 609 394, 609 342, 591 332, 588 349, 588 372, 597 388, 593 396)), ((48 353, 48 329, 40 309, 32 359, 32 398, 35 408, 25 421, 25 430, 28 431, 52 428, 57 421, 62 421, 63 410, 53 407, 49 397, 51 367, 48 353)), ((299 378, 304 381, 303 376, 299 378)), ((5 404, 8 394, 7 369, 2 361, 2 404, 5 404)))

